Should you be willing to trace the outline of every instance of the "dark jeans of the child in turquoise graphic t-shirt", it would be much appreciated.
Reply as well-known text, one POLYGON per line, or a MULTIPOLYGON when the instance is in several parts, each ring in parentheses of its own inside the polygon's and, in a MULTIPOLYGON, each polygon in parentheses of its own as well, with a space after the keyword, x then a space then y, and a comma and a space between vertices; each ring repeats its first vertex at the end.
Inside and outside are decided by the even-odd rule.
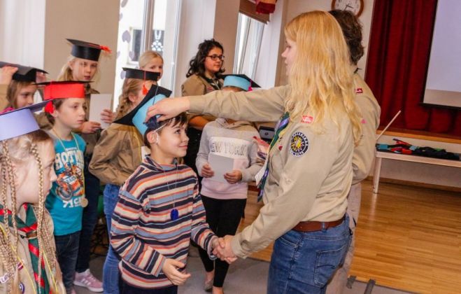
POLYGON ((68 235, 55 236, 57 262, 59 262, 59 267, 61 267, 62 281, 67 293, 71 293, 73 288, 79 240, 80 231, 68 235))

